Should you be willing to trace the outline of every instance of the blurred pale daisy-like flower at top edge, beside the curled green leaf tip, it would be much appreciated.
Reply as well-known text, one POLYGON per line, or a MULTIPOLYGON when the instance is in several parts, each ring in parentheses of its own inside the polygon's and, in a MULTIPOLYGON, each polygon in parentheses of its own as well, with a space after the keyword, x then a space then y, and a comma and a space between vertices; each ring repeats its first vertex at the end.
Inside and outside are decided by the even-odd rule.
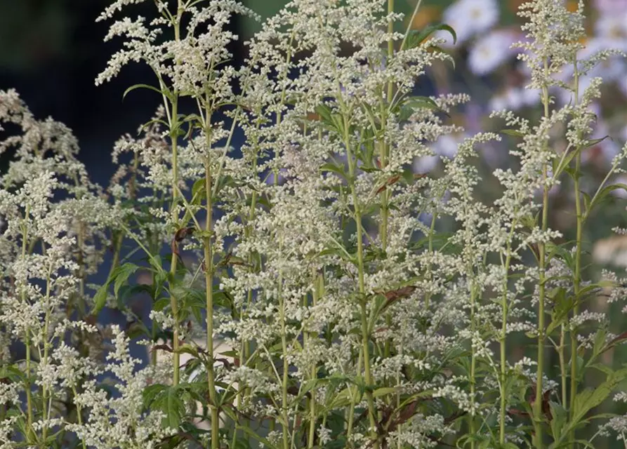
MULTIPOLYGON (((496 25, 499 5, 496 0, 458 0, 444 11, 443 21, 455 30, 457 43, 463 43, 496 25)), ((445 45, 452 46, 453 39, 447 32, 438 32, 437 37, 445 39, 445 45)))

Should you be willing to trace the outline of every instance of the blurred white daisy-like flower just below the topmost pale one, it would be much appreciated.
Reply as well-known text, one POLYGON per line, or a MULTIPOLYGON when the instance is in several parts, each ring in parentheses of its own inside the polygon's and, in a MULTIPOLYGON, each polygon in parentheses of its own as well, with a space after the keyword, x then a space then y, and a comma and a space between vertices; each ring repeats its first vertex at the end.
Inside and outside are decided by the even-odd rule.
POLYGON ((478 39, 468 55, 468 67, 475 75, 487 75, 516 52, 511 48, 515 34, 496 30, 478 39))

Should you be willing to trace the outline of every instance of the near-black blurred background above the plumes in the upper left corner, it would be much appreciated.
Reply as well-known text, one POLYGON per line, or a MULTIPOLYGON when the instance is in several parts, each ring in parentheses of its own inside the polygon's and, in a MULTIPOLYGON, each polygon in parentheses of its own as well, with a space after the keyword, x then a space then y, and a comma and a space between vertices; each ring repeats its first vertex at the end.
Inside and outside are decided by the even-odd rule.
MULTIPOLYGON (((144 89, 122 99, 129 86, 153 83, 154 74, 142 63, 131 63, 109 83, 95 86, 95 77, 121 46, 121 38, 103 41, 112 21, 95 22, 110 3, 0 0, 0 89, 14 88, 36 119, 51 116, 69 126, 79 140, 79 159, 103 187, 114 172, 110 157, 114 142, 124 133, 136 133, 161 100, 144 89)), ((126 14, 152 18, 154 4, 129 6, 126 14)), ((246 36, 249 33, 242 28, 251 23, 235 18, 231 26, 233 32, 246 36)), ((242 60, 241 45, 232 51, 237 65, 242 60)), ((2 162, 8 162, 6 155, 2 162)))

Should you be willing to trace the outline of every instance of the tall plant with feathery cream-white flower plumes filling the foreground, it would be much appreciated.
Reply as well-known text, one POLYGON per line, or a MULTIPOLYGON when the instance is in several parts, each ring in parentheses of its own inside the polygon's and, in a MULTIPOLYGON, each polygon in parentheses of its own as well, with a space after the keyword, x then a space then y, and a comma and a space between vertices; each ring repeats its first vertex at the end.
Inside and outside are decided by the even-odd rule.
MULTIPOLYGON (((98 20, 136 3, 114 1, 98 20)), ((595 304, 622 302, 626 279, 584 279, 583 229, 627 189, 612 184, 627 145, 599 182, 582 163, 598 145, 602 83, 586 77, 622 53, 580 57, 583 1, 520 7, 515 46, 540 113, 496 111, 499 133, 468 135, 419 173, 415 161, 463 132, 450 117, 468 95, 415 94, 432 65, 452 62, 442 34, 468 38, 455 27, 397 32, 393 0, 293 0, 233 67, 226 27, 253 11, 154 5, 156 18, 116 18, 107 34, 124 43, 96 83, 141 61, 155 79, 125 95, 163 100, 116 143, 107 189, 88 180, 70 130, 0 93, 0 121, 22 129, 0 144, 15 147, 0 177, 0 447, 624 439, 627 415, 595 410, 626 401, 627 368, 605 356, 627 335, 595 304), (558 107, 555 91, 571 101, 558 107), (513 162, 480 173, 478 151, 501 140, 513 162), (485 180, 498 186, 488 197, 485 180), (573 198, 572 240, 550 220, 557 186, 573 198), (150 323, 129 306, 137 295, 150 323), (99 323, 105 307, 126 328, 99 323), (147 366, 131 356, 137 337, 147 366)))

